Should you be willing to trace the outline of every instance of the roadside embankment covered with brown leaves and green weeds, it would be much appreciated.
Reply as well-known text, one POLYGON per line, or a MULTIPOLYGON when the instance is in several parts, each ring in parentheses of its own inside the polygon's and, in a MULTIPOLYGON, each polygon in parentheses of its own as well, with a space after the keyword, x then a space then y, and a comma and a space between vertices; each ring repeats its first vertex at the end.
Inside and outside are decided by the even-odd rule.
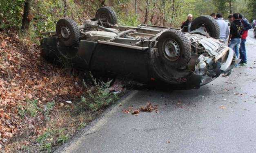
POLYGON ((115 100, 99 86, 86 95, 84 73, 47 63, 27 38, 0 33, 0 151, 49 152, 115 100))

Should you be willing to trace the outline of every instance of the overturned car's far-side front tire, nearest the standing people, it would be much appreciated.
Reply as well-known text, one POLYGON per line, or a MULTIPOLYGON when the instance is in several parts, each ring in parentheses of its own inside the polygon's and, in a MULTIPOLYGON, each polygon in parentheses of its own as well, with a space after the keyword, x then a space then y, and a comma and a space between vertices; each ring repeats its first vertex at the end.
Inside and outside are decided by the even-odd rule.
POLYGON ((214 37, 215 39, 219 39, 220 37, 220 27, 218 26, 217 21, 209 16, 209 15, 202 15, 200 17, 197 17, 191 24, 190 30, 196 30, 197 28, 200 28, 200 26, 205 26, 207 32, 211 37, 214 37))

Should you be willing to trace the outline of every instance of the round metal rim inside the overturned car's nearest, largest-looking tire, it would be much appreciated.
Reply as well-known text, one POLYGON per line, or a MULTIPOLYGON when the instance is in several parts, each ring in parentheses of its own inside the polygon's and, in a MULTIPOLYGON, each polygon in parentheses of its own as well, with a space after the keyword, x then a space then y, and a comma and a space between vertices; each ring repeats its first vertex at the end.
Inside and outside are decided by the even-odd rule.
POLYGON ((178 43, 172 39, 168 39, 164 43, 165 57, 170 61, 176 61, 180 57, 180 47, 178 43))

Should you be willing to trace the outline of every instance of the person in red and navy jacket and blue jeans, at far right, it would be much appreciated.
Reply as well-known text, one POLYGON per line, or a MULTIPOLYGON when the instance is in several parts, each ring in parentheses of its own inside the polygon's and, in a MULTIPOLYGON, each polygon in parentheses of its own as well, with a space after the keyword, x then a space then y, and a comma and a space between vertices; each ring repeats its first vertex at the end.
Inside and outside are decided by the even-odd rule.
POLYGON ((246 48, 245 48, 245 42, 246 37, 248 36, 248 30, 252 28, 251 24, 249 24, 248 20, 246 18, 243 18, 243 15, 239 13, 239 20, 241 20, 243 25, 243 33, 241 36, 241 44, 240 44, 240 66, 246 66, 247 65, 247 56, 246 56, 246 48))

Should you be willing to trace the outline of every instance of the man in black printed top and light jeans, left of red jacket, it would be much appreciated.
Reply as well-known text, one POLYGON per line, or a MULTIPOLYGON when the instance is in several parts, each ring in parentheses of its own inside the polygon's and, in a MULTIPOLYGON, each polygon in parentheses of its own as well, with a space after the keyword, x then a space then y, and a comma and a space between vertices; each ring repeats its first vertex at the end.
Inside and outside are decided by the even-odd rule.
POLYGON ((238 17, 239 17, 238 13, 234 13, 233 17, 234 17, 234 21, 230 25, 228 46, 235 51, 236 57, 239 57, 239 47, 241 43, 243 26, 241 21, 238 20, 238 17))

